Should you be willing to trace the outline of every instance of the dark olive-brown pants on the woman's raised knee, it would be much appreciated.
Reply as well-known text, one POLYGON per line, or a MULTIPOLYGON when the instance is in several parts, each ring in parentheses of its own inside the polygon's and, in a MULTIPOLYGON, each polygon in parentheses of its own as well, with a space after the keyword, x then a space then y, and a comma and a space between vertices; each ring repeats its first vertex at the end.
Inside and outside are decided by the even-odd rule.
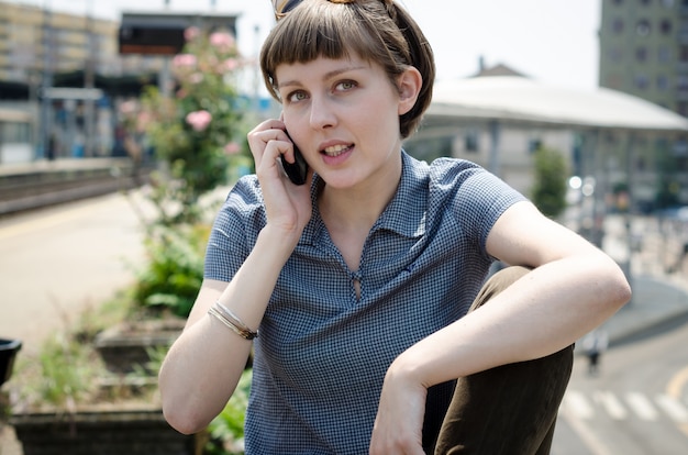
MULTIPOLYGON (((470 310, 489 302, 529 271, 508 267, 496 273, 470 310)), ((543 358, 459 378, 439 436, 426 441, 425 451, 436 455, 548 454, 570 378, 573 351, 572 345, 543 358)))

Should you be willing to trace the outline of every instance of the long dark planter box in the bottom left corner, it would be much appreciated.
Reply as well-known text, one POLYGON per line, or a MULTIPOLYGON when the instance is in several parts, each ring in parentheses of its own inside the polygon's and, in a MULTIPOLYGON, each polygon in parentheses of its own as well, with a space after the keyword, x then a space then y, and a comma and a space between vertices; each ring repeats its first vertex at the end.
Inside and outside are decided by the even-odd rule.
POLYGON ((199 455, 206 440, 177 432, 159 409, 20 412, 10 423, 23 455, 199 455))

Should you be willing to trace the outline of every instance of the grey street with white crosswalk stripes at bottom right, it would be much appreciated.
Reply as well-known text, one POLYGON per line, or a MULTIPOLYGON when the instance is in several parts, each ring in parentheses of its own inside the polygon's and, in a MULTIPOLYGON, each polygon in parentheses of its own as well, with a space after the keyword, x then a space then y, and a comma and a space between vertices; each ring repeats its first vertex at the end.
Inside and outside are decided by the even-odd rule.
POLYGON ((553 455, 688 453, 688 319, 612 347, 600 373, 576 357, 553 455))

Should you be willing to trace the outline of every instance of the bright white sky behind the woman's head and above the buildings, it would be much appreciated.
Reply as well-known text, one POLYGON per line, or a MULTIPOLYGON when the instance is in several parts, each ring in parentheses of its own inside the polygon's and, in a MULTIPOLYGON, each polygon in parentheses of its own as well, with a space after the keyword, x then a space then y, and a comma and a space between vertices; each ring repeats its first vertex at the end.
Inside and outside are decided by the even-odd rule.
MULTIPOLYGON (((111 20, 122 11, 141 11, 142 4, 144 11, 166 9, 165 0, 9 1, 111 20)), ((601 0, 398 1, 430 41, 440 80, 473 76, 482 58, 487 67, 504 64, 552 85, 598 86, 601 0)), ((167 10, 241 14, 237 41, 245 56, 257 54, 274 24, 270 0, 169 0, 167 10)))

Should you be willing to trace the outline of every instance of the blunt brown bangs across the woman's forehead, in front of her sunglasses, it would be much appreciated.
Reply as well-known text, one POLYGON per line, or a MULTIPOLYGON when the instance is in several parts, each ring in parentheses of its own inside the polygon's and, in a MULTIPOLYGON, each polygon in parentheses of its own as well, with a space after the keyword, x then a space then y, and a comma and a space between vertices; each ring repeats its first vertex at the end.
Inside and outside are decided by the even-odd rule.
MULTIPOLYGON (((387 14, 382 15, 387 18, 387 24, 378 24, 368 19, 370 14, 360 14, 357 8, 349 8, 348 4, 318 0, 306 0, 303 3, 277 23, 260 52, 266 87, 277 100, 275 70, 279 65, 309 63, 320 57, 349 58, 353 55, 368 62, 389 60, 389 54, 380 53, 387 47, 379 32, 380 29, 396 29, 387 14)), ((367 8, 366 4, 357 7, 367 8)), ((390 68, 386 69, 389 73, 390 68)), ((392 73, 399 74, 400 70, 395 68, 392 73)))

